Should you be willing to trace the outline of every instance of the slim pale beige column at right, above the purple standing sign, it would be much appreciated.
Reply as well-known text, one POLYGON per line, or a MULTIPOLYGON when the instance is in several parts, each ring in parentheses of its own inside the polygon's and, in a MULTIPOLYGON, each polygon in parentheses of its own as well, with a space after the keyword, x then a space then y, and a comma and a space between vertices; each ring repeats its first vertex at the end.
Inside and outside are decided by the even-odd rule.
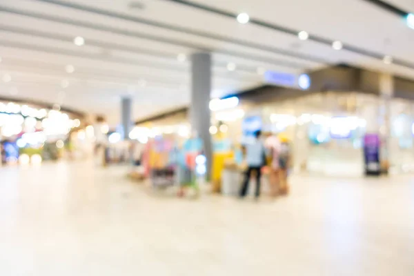
POLYGON ((380 137, 382 138, 381 159, 390 160, 389 141, 391 138, 391 99, 394 95, 394 77, 380 75, 380 137))

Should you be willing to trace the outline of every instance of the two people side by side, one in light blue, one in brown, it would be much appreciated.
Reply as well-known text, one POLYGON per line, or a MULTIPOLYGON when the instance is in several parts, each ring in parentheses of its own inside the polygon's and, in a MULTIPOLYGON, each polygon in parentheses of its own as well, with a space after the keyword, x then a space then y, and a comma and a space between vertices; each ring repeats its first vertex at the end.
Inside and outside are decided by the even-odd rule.
POLYGON ((290 167, 290 149, 286 137, 262 137, 262 131, 255 132, 255 139, 244 146, 246 155, 246 175, 240 190, 240 197, 245 197, 252 173, 256 177, 256 198, 260 195, 262 170, 268 167, 271 195, 288 193, 288 168, 290 167))

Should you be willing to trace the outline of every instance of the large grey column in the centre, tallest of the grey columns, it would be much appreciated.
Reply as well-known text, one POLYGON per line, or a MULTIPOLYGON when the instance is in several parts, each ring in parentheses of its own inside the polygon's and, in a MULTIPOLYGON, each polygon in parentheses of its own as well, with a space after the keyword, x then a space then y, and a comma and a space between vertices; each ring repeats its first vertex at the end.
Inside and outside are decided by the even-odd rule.
POLYGON ((190 123, 204 142, 204 154, 207 157, 207 175, 210 177, 212 146, 210 136, 210 91, 211 91, 211 55, 208 52, 191 56, 191 96, 190 123))

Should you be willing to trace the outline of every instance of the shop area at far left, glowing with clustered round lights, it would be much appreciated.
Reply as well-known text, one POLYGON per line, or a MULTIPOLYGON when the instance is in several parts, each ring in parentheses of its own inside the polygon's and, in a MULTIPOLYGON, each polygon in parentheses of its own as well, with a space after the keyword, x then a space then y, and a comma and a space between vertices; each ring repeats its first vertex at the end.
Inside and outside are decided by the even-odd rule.
POLYGON ((0 101, 0 165, 57 160, 65 149, 75 155, 73 149, 80 148, 85 140, 85 132, 81 130, 83 118, 83 114, 61 110, 60 106, 3 99, 0 101))

